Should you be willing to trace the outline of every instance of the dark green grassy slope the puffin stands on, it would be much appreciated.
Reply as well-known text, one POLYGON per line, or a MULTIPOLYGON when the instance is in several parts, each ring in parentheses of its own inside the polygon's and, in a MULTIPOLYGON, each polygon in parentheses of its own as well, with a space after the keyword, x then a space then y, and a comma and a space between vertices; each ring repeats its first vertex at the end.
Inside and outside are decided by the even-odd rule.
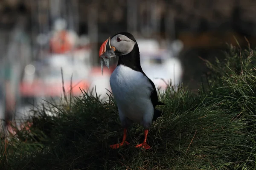
POLYGON ((102 104, 83 92, 33 110, 30 132, 1 139, 1 170, 249 170, 256 168, 256 59, 231 46, 223 60, 205 61, 211 74, 197 93, 182 85, 166 91, 163 117, 152 125, 150 150, 135 148, 143 128, 122 127, 113 96, 102 104), (47 116, 46 112, 56 116, 47 116))

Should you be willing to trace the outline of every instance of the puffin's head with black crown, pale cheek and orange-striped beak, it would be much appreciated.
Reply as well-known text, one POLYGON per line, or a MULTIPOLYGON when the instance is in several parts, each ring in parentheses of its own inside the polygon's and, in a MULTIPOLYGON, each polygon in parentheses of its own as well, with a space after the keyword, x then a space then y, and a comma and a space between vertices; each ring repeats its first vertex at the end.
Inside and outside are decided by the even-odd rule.
POLYGON ((99 57, 113 48, 117 56, 129 54, 136 44, 134 36, 128 32, 120 32, 109 37, 99 48, 99 57))

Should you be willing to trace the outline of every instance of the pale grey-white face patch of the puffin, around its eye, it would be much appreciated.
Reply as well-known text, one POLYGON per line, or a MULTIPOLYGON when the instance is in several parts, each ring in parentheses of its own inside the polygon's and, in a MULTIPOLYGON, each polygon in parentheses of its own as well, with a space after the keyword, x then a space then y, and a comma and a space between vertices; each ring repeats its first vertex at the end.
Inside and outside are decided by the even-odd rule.
POLYGON ((115 52, 119 56, 129 54, 133 50, 135 44, 136 42, 122 34, 117 34, 111 38, 110 41, 110 45, 116 48, 115 52))

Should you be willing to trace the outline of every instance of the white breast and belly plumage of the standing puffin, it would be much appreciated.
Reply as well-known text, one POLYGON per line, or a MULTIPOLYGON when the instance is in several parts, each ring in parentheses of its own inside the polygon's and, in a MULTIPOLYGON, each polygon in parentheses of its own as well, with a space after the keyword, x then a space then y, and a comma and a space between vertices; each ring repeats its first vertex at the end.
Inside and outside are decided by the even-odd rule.
POLYGON ((110 85, 119 115, 134 122, 151 122, 154 108, 150 99, 152 85, 140 71, 118 65, 110 77, 110 85), (145 117, 146 116, 146 117, 145 117))

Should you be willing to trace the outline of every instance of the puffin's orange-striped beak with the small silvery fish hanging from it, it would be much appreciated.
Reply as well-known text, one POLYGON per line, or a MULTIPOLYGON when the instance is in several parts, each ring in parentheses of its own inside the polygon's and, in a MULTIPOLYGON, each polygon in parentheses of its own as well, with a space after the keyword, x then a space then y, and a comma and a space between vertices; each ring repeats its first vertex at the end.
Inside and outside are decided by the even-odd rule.
POLYGON ((111 38, 109 37, 105 42, 102 43, 102 45, 99 48, 99 58, 100 65, 102 68, 102 74, 103 74, 103 61, 105 62, 105 65, 109 69, 109 60, 111 60, 111 57, 116 57, 115 54, 116 48, 111 46, 111 38))

